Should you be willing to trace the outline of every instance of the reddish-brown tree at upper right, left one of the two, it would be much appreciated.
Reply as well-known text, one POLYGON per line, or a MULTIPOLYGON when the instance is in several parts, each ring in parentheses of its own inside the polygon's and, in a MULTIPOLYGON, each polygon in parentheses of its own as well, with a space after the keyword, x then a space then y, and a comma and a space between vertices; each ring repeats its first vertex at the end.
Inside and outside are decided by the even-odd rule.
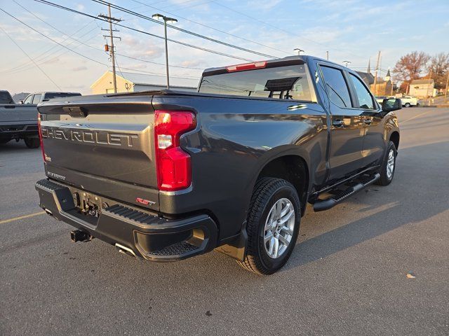
POLYGON ((422 71, 426 69, 429 59, 430 56, 422 51, 414 51, 404 55, 396 62, 396 66, 394 66, 394 78, 406 83, 409 83, 410 80, 420 78, 422 71))

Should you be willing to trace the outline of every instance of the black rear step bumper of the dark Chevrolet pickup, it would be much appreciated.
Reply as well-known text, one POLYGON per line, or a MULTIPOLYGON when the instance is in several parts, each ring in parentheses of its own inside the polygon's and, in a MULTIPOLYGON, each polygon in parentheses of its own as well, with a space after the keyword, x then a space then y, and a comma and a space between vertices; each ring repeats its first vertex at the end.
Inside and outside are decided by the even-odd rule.
POLYGON ((147 260, 182 260, 211 251, 217 243, 217 225, 207 215, 168 220, 117 203, 94 217, 80 214, 67 186, 45 179, 36 190, 39 206, 58 220, 147 260))

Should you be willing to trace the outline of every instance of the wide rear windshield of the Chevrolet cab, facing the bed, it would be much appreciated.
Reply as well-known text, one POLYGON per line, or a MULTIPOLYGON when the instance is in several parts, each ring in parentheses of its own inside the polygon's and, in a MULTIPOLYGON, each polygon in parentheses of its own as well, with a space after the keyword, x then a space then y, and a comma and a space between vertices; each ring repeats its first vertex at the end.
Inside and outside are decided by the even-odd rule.
POLYGON ((305 64, 204 76, 199 92, 313 102, 305 64))

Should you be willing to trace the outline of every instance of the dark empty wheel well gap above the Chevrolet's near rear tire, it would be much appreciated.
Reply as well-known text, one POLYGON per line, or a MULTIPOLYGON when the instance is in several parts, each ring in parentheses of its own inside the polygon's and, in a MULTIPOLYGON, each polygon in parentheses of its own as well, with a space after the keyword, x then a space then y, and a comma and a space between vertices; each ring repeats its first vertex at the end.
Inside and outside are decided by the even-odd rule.
POLYGON ((300 156, 286 155, 268 162, 257 179, 262 177, 276 177, 292 183, 300 197, 301 210, 304 214, 309 187, 309 170, 300 156))

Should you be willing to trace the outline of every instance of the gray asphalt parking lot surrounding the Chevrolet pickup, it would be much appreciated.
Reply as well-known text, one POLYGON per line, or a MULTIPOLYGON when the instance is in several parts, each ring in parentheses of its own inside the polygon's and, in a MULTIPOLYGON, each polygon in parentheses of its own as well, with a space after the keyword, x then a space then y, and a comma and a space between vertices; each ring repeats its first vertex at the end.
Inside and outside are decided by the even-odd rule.
POLYGON ((397 114, 393 183, 308 209, 272 276, 216 252, 152 263, 74 244, 36 214, 40 149, 1 146, 0 334, 449 335, 449 109, 397 114))

